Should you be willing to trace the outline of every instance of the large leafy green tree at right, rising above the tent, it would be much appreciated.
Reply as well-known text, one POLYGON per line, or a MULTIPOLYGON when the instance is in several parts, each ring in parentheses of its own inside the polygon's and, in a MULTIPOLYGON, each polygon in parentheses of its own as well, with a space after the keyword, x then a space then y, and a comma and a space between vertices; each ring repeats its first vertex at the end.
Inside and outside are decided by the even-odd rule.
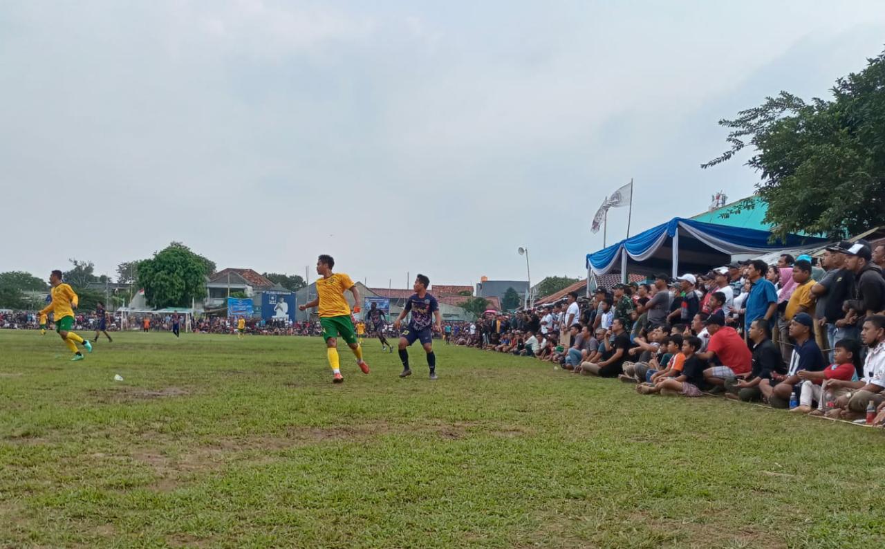
MULTIPOLYGON (((716 166, 747 146, 760 174, 775 236, 804 231, 839 238, 873 228, 885 218, 885 53, 840 78, 833 98, 781 91, 758 107, 720 120, 731 149, 701 167, 716 166)), ((731 211, 751 208, 743 201, 731 211)))

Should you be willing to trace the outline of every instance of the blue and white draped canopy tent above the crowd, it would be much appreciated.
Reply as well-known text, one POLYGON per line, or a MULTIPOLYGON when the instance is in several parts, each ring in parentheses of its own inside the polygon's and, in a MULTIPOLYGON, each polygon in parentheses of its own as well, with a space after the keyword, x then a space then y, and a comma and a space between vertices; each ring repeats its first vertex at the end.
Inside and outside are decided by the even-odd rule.
POLYGON ((611 272, 652 274, 706 272, 727 265, 732 256, 812 248, 827 243, 814 236, 788 235, 769 242, 771 232, 727 227, 674 217, 619 243, 587 255, 588 277, 611 272))

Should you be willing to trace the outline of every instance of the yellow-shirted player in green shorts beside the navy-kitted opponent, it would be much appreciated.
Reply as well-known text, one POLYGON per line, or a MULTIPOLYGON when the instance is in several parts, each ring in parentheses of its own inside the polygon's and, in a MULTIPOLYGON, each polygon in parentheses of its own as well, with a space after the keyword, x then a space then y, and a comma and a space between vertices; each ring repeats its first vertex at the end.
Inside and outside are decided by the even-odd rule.
MULTIPOLYGON (((344 292, 350 290, 353 294, 353 302, 359 303, 359 291, 356 284, 350 280, 350 276, 343 273, 333 273, 335 259, 323 254, 317 260, 317 274, 322 278, 317 280, 317 298, 310 303, 298 305, 304 311, 319 305, 319 325, 323 329, 323 339, 326 340, 326 356, 329 367, 332 368, 332 383, 342 383, 341 367, 338 358, 338 336, 357 357, 357 365, 363 374, 369 373, 369 365, 363 360, 363 348, 357 342, 357 334, 353 329, 353 319, 350 315, 350 305, 344 298, 344 292)), ((359 306, 354 305, 354 313, 359 313, 359 306)))

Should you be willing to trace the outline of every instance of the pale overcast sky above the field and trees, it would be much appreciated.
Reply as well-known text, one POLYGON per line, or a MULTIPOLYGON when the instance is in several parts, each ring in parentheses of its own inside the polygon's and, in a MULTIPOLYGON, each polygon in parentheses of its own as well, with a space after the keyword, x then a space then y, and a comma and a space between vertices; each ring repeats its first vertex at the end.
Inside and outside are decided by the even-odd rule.
POLYGON ((177 240, 370 286, 524 280, 520 245, 580 276, 605 194, 635 179, 634 233, 749 195, 745 158, 698 167, 717 120, 883 43, 881 0, 5 0, 0 271, 177 240))

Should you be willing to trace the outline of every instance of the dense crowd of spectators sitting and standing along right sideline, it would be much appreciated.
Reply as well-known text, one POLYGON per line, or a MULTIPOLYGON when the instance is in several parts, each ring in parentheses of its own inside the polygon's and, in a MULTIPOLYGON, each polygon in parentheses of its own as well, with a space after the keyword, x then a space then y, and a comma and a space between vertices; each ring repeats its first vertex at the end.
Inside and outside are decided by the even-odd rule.
MULTIPOLYGON (((885 244, 843 241, 452 330, 455 344, 617 377, 643 394, 704 393, 797 414, 885 422, 885 244), (874 416, 874 417, 873 417, 874 416)), ((447 330, 448 332, 448 330, 447 330)))

